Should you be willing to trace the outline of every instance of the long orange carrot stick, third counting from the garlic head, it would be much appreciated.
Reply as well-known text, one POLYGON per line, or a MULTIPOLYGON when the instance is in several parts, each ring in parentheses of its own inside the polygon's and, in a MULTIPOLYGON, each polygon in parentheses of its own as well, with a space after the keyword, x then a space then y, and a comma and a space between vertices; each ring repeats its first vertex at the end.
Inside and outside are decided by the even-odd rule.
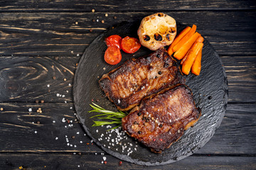
POLYGON ((191 46, 193 45, 194 42, 196 42, 196 40, 198 39, 198 37, 200 37, 201 35, 196 32, 194 33, 194 35, 192 35, 191 38, 188 39, 187 42, 185 42, 179 49, 178 51, 176 51, 174 53, 174 57, 176 57, 176 59, 181 60, 183 59, 183 57, 185 57, 186 53, 188 52, 188 50, 191 48, 191 46))

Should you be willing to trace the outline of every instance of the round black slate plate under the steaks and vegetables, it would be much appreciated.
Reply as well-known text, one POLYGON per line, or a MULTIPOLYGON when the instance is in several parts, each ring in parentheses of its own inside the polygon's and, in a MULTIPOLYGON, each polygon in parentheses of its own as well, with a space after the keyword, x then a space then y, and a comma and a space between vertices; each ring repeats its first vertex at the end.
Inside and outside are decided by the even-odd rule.
MULTIPOLYGON (((109 35, 114 34, 122 37, 127 35, 137 37, 137 28, 139 28, 139 22, 121 23, 119 26, 100 34, 87 47, 75 73, 73 89, 75 109, 87 135, 92 137, 92 140, 105 152, 135 164, 148 166, 169 164, 193 154, 213 137, 225 114, 228 101, 228 81, 220 57, 205 39, 201 74, 199 76, 193 74, 186 76, 186 84, 192 89, 196 105, 201 108, 202 116, 193 128, 186 130, 180 140, 161 154, 150 152, 132 137, 125 135, 122 130, 106 131, 110 128, 106 126, 92 127, 92 120, 97 120, 90 118, 97 113, 87 113, 87 111, 92 110, 89 106, 92 101, 107 110, 117 111, 100 90, 98 84, 100 77, 131 57, 139 57, 151 52, 145 47, 142 47, 134 55, 122 52, 122 62, 111 66, 103 59, 107 49, 104 40, 109 35)), ((177 24, 178 32, 183 28, 185 26, 177 24)))

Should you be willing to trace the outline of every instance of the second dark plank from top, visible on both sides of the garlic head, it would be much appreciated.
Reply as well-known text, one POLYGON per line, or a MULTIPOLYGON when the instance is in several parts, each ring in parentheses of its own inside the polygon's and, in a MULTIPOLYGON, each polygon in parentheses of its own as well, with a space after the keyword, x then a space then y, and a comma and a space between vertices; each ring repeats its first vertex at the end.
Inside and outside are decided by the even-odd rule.
MULTIPOLYGON (((256 54, 256 11, 166 13, 186 25, 196 24, 198 32, 220 55, 256 54)), ((0 13, 0 55, 81 55, 102 31, 122 21, 140 21, 149 14, 110 12, 106 17, 105 13, 0 13)))

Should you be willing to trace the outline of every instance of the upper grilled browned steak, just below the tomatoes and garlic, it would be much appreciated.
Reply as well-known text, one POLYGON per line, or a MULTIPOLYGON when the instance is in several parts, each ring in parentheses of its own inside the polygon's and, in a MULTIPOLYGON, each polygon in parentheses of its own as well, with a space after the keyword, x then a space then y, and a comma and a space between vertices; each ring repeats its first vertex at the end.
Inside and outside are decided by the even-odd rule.
POLYGON ((151 55, 127 60, 104 74, 99 84, 120 111, 129 111, 145 96, 184 81, 177 62, 161 48, 151 55))

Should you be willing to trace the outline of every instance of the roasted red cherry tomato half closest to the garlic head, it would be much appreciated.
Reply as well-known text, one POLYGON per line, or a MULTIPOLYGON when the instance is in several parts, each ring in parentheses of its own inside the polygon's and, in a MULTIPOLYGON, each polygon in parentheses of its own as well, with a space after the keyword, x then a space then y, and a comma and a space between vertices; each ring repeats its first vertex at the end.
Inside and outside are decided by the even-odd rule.
POLYGON ((121 42, 122 50, 130 54, 137 52, 141 46, 137 38, 130 38, 129 36, 123 38, 121 42))

